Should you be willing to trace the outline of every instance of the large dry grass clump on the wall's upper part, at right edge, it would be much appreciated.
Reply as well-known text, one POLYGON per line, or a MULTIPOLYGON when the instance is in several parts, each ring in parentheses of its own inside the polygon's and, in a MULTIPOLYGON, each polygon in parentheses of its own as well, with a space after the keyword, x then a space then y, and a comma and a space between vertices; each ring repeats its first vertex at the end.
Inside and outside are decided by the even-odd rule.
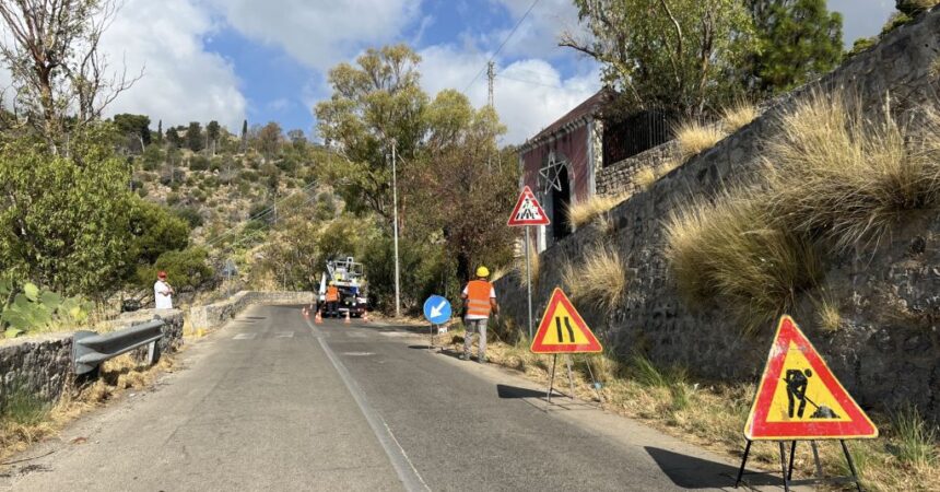
POLYGON ((940 117, 867 118, 842 94, 813 94, 767 142, 773 214, 836 250, 877 244, 903 213, 940 206, 940 117))

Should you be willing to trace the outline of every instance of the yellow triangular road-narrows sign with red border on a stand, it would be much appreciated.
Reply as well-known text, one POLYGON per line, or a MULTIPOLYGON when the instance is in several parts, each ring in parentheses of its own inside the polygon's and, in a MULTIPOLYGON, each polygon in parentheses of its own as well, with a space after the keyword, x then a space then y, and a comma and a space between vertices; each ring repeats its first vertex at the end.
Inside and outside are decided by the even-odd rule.
POLYGON ((592 353, 603 348, 565 293, 555 288, 531 350, 533 353, 592 353))

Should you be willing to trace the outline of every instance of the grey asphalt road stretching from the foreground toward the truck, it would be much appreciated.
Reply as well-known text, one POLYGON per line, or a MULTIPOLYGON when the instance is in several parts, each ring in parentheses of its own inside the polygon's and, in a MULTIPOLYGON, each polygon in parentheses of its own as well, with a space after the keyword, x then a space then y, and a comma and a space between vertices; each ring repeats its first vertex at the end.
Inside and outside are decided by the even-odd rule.
POLYGON ((585 403, 549 405, 543 388, 404 328, 259 306, 191 345, 155 388, 0 468, 0 490, 733 485, 735 464, 585 403))

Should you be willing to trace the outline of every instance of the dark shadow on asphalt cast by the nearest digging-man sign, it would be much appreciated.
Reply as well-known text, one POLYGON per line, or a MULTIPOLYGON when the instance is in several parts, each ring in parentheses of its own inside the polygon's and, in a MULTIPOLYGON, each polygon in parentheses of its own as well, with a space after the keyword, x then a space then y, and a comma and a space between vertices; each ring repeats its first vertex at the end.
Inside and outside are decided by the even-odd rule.
MULTIPOLYGON (((646 446, 646 453, 679 487, 685 489, 732 488, 738 469, 722 462, 686 456, 658 447, 646 446)), ((744 475, 742 485, 779 485, 780 479, 768 473, 744 475)))

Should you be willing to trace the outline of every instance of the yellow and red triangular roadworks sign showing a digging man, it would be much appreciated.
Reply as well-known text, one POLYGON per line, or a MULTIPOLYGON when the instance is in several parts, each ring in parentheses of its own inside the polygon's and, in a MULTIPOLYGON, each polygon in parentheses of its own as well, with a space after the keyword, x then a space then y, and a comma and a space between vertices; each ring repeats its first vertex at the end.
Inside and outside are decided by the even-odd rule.
POLYGON ((744 437, 795 441, 877 436, 878 429, 796 321, 782 317, 744 437))

